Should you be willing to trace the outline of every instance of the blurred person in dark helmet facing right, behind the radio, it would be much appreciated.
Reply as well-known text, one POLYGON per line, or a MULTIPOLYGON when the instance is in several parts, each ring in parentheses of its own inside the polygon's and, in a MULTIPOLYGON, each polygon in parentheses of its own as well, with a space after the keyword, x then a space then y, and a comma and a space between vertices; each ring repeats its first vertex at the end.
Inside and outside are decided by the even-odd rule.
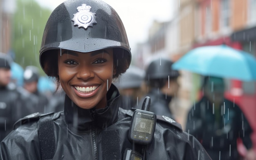
MULTIPOLYGON (((145 96, 151 99, 150 111, 175 119, 170 110, 170 103, 179 90, 180 73, 172 69, 172 64, 171 60, 163 58, 151 61, 146 69, 144 81, 148 86, 148 93, 145 96)), ((138 106, 142 103, 143 101, 140 101, 138 106)))

